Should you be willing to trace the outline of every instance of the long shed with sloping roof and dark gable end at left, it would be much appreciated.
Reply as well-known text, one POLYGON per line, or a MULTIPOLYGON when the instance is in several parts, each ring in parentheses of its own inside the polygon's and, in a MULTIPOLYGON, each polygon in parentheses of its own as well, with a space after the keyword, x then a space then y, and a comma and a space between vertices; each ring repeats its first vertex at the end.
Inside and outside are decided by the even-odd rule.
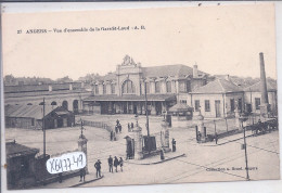
POLYGON ((74 113, 62 106, 46 105, 44 116, 43 105, 5 105, 4 111, 7 128, 42 129, 43 117, 46 129, 72 127, 75 123, 74 113))

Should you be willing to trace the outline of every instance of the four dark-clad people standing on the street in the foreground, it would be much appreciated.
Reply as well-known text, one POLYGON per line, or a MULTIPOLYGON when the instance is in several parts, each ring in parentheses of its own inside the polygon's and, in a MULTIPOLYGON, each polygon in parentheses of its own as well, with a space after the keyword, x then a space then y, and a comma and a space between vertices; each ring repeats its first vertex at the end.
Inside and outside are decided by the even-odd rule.
MULTIPOLYGON (((114 158, 110 155, 110 157, 107 158, 107 163, 108 163, 108 170, 110 172, 114 172, 113 171, 113 167, 115 167, 115 171, 118 172, 118 166, 120 167, 120 171, 123 171, 123 167, 124 167, 124 159, 123 157, 119 157, 119 159, 115 156, 114 158)), ((102 168, 102 163, 100 159, 97 160, 97 163, 94 164, 94 168, 95 168, 95 176, 97 178, 102 177, 101 176, 101 168, 102 168)))

